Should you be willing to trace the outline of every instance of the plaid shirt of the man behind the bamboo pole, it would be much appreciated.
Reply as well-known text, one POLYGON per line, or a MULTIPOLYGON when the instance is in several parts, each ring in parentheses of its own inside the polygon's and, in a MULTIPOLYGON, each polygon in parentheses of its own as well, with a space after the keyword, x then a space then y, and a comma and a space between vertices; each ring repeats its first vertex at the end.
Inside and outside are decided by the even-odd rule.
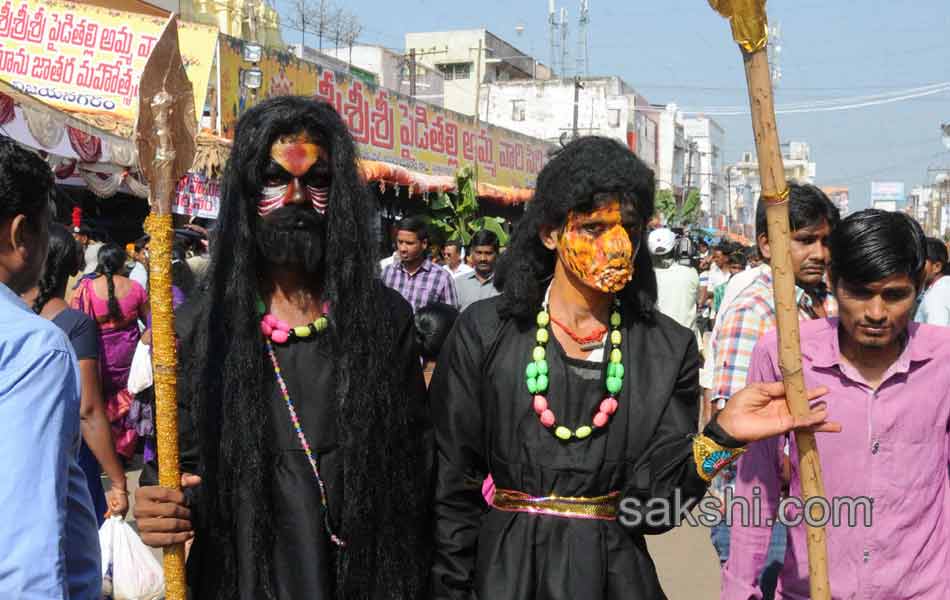
MULTIPOLYGON (((838 303, 827 291, 823 295, 822 305, 828 316, 836 316, 838 303)), ((799 320, 818 318, 811 296, 798 286, 795 286, 795 299, 799 320)), ((772 270, 762 269, 723 311, 719 331, 712 340, 713 399, 729 399, 745 387, 755 343, 776 327, 772 270)))

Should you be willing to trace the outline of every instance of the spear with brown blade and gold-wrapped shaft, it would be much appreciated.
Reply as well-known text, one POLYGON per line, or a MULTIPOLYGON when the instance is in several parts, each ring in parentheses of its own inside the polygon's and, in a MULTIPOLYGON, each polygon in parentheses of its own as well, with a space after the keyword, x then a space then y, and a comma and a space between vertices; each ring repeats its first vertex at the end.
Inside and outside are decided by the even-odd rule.
MULTIPOLYGON (((172 312, 172 204, 175 188, 195 157, 197 119, 191 82, 178 47, 178 21, 172 15, 142 72, 135 141, 139 166, 149 183, 151 214, 146 230, 152 237, 149 288, 152 305, 152 368, 155 373, 155 430, 158 479, 162 487, 179 489, 178 355, 172 312)), ((165 598, 185 600, 185 549, 165 549, 165 598)))

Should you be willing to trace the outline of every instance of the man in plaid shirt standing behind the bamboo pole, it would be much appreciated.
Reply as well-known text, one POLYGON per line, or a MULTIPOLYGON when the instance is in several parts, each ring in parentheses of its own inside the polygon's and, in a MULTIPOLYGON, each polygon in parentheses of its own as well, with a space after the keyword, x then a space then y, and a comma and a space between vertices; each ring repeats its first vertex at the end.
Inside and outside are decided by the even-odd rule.
MULTIPOLYGON (((828 293, 825 273, 830 260, 828 236, 840 220, 838 209, 819 188, 789 183, 788 211, 799 319, 836 316, 838 306, 828 293)), ((769 260, 772 254, 765 203, 761 201, 756 208, 755 228, 759 251, 769 260)), ((711 348, 712 402, 714 408, 719 409, 725 406, 733 394, 745 387, 755 343, 776 326, 772 269, 763 266, 762 273, 721 311, 722 320, 717 326, 711 348)), ((724 469, 713 480, 712 493, 722 494, 725 486, 730 485, 734 473, 734 468, 724 469)), ((728 534, 725 525, 713 528, 713 544, 723 562, 729 554, 728 534)))

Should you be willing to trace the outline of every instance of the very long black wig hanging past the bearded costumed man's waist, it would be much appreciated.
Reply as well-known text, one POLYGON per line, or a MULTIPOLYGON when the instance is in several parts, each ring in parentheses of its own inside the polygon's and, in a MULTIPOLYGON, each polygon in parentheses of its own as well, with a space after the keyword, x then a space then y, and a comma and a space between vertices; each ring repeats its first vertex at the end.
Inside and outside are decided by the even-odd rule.
POLYGON ((396 324, 369 251, 372 198, 337 112, 287 96, 258 104, 238 123, 211 263, 197 292, 194 327, 182 343, 184 401, 199 432, 203 476, 196 534, 220 567, 204 597, 236 598, 239 569, 257 569, 255 596, 274 597, 271 515, 281 507, 270 505, 266 487, 257 202, 271 145, 301 131, 328 150, 332 173, 322 281, 332 306, 328 343, 344 465, 337 530, 347 546, 338 553, 337 593, 347 600, 417 598, 428 569, 420 552, 428 531, 426 489, 418 483, 423 442, 410 430, 407 375, 393 366, 396 324), (253 564, 236 555, 239 511, 249 515, 251 547, 260 549, 253 564))

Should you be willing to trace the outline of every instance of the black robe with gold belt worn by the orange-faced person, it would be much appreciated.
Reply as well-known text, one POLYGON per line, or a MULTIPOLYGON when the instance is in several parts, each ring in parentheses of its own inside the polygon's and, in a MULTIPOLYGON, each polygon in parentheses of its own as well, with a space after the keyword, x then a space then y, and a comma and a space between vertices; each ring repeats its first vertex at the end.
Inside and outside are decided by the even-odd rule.
MULTIPOLYGON (((491 473, 498 488, 532 496, 618 491, 640 500, 640 517, 650 512, 649 499, 672 500, 676 490, 684 502, 698 501, 706 483, 692 458, 699 407, 693 334, 661 314, 653 323, 625 315, 620 408, 605 430, 565 443, 541 425, 525 386, 537 326, 501 320, 498 302, 478 302, 459 318, 429 390, 437 448, 434 600, 663 598, 643 536, 673 523, 626 527, 504 512, 486 506, 481 487, 491 473)), ((548 401, 559 424, 591 423, 605 395, 607 354, 602 364, 574 360, 551 336, 548 401)))

